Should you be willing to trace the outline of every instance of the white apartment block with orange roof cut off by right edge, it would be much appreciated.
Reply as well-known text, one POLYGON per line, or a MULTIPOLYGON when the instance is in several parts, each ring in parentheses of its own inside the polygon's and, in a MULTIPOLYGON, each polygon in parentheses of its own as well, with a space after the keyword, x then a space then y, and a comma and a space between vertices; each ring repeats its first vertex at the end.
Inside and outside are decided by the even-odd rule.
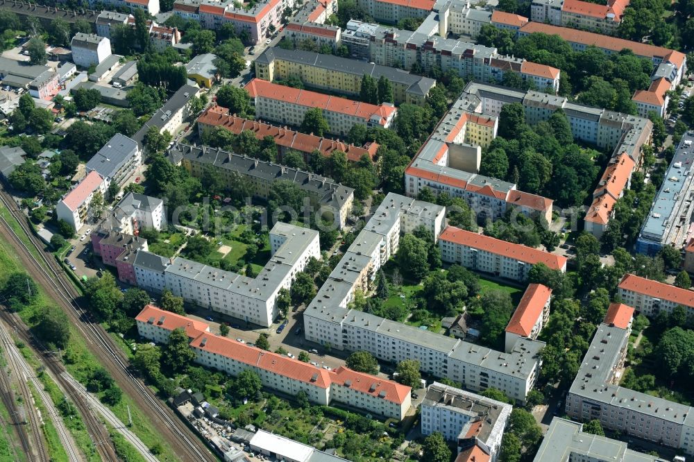
POLYGON ((689 289, 634 274, 625 275, 618 289, 622 300, 645 316, 655 317, 661 311, 670 314, 677 306, 684 307, 687 316, 694 316, 694 291, 689 289))

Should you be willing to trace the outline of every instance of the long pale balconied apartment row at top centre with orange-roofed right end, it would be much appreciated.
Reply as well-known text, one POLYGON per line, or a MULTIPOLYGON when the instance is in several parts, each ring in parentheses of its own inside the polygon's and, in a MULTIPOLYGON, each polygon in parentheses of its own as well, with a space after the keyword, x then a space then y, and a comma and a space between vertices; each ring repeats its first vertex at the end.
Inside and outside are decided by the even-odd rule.
MULTIPOLYGON (((432 15, 433 18, 440 17, 432 15)), ((414 32, 350 21, 342 34, 342 41, 352 55, 366 56, 377 65, 398 69, 418 66, 424 73, 434 68, 444 72, 452 69, 464 78, 489 83, 498 83, 505 73, 516 72, 524 80, 532 81, 537 89, 559 90, 559 69, 500 55, 496 48, 489 46, 448 39, 446 30, 440 29, 450 29, 452 24, 437 22, 436 19, 432 21, 432 26, 428 19, 414 32)))

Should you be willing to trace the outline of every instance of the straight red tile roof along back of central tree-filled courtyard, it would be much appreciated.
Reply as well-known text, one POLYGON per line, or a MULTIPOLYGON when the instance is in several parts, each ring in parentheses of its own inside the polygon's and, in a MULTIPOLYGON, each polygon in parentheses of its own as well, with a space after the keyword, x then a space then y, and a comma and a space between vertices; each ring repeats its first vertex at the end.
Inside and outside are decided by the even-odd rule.
POLYGON ((543 263, 548 266, 548 268, 557 270, 566 267, 566 257, 554 255, 521 244, 494 239, 493 237, 477 234, 476 232, 461 230, 455 228, 455 226, 447 226, 441 233, 441 236, 439 236, 439 239, 441 239, 441 241, 484 250, 495 255, 502 255, 528 264, 543 263))

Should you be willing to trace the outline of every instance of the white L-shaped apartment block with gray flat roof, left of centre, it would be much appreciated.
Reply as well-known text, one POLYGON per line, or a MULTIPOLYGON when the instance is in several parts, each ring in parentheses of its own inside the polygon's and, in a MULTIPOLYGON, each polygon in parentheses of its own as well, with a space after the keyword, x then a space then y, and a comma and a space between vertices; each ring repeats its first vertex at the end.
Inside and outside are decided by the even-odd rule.
POLYGON ((164 271, 166 287, 186 302, 269 326, 280 289, 290 288, 311 257, 321 258, 317 231, 278 222, 270 241, 272 257, 255 279, 178 257, 164 271))

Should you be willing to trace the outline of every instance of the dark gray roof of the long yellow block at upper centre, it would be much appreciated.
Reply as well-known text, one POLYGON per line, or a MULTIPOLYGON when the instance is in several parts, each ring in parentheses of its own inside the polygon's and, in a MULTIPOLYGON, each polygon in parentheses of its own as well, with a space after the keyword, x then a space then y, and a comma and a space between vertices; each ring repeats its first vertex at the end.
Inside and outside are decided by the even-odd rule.
POLYGON ((258 56, 256 62, 269 64, 275 59, 291 62, 301 62, 313 67, 332 69, 335 71, 354 74, 355 76, 369 75, 373 78, 384 76, 391 82, 407 85, 407 92, 418 95, 425 95, 436 84, 436 80, 428 77, 416 76, 401 69, 393 67, 371 64, 369 62, 340 58, 334 55, 323 55, 301 50, 285 50, 279 47, 266 49, 262 55, 258 56))

